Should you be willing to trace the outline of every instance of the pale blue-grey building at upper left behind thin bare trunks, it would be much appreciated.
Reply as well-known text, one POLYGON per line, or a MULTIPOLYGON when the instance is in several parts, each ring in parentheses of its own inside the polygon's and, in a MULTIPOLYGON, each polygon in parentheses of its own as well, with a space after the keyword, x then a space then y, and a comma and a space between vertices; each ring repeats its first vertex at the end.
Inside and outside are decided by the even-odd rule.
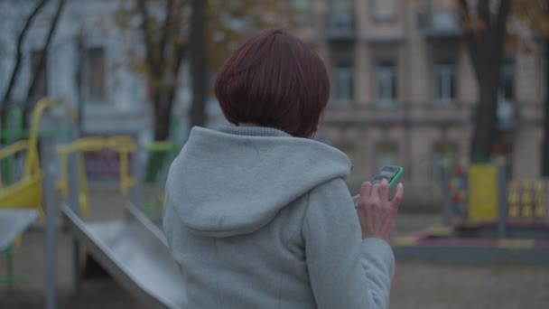
MULTIPOLYGON (((14 68, 16 35, 36 3, 0 2, 0 27, 4 30, 0 33, 0 52, 5 55, 0 58, 0 93, 4 93, 14 68)), ((57 1, 51 1, 44 6, 23 41, 21 69, 11 98, 15 105, 27 98, 56 5, 57 1)), ((119 5, 109 0, 66 2, 31 98, 51 97, 65 100, 74 108, 80 105, 83 135, 150 138, 146 80, 135 72, 129 57, 130 52, 143 52, 140 33, 117 25, 119 5)))

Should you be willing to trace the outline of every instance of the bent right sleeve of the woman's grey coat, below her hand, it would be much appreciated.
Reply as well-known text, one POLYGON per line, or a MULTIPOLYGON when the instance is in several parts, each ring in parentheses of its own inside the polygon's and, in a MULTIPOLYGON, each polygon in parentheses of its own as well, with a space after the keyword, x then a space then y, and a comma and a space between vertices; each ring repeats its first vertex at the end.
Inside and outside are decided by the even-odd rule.
POLYGON ((307 267, 319 308, 387 308, 395 269, 382 239, 362 239, 342 180, 312 190, 303 220, 307 267))

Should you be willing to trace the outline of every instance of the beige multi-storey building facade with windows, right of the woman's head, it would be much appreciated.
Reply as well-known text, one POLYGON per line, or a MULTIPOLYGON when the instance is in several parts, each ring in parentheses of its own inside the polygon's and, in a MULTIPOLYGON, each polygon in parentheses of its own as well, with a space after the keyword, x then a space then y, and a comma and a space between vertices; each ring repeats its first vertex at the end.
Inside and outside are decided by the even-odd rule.
MULTIPOLYGON (((346 152, 352 178, 384 164, 433 189, 442 159, 468 164, 477 82, 455 0, 310 0, 298 32, 328 64, 322 138, 346 152)), ((539 177, 543 48, 508 49, 501 74, 495 156, 515 179, 539 177)))

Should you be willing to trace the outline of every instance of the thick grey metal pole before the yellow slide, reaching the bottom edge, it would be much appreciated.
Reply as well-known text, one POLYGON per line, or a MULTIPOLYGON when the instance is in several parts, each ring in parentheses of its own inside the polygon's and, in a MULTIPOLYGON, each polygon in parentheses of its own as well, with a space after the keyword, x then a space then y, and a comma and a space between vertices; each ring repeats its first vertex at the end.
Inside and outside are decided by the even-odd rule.
POLYGON ((57 308, 56 290, 57 290, 57 268, 56 268, 56 226, 57 202, 55 201, 55 188, 53 185, 55 179, 55 162, 53 161, 53 140, 51 137, 42 138, 42 166, 44 177, 42 181, 44 211, 46 212, 46 309, 57 308))

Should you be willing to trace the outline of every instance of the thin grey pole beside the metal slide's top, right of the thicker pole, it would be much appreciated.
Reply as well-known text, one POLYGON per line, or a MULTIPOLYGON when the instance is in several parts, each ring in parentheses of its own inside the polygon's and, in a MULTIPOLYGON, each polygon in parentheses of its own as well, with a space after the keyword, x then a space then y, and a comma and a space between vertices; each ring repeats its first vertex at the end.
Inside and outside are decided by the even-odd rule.
MULTIPOLYGON (((80 215, 79 201, 79 153, 74 152, 68 157, 69 167, 69 203, 70 209, 77 215, 80 215)), ((82 290, 82 278, 80 276, 80 244, 79 241, 72 239, 72 265, 74 276, 74 287, 77 293, 82 290)))

